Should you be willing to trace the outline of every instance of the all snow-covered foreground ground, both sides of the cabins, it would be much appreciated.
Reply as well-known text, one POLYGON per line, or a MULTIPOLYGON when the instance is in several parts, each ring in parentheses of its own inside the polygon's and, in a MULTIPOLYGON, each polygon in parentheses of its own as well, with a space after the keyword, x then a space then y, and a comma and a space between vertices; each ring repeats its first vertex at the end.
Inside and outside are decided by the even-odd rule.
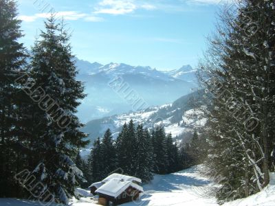
MULTIPOLYGON (((167 175, 155 175, 153 181, 144 185, 144 194, 140 200, 133 203, 125 203, 123 206, 195 206, 218 205, 215 198, 203 195, 210 187, 214 187, 211 181, 199 174, 201 165, 167 175)), ((225 203, 223 206, 274 206, 275 205, 275 173, 270 175, 270 185, 262 192, 248 198, 225 203)), ((83 198, 72 199, 72 206, 94 206, 97 199, 93 198, 89 191, 79 189, 83 198)), ((37 206, 40 203, 24 201, 15 198, 0 198, 1 206, 37 206)))

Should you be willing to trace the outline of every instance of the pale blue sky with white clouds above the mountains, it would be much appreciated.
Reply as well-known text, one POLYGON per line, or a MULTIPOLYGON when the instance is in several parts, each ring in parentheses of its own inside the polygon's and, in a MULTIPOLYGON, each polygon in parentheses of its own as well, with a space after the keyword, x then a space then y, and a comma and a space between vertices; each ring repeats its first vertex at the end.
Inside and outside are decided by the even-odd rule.
POLYGON ((195 67, 221 0, 20 0, 23 43, 33 45, 51 8, 72 30, 74 54, 90 62, 156 69, 195 67))

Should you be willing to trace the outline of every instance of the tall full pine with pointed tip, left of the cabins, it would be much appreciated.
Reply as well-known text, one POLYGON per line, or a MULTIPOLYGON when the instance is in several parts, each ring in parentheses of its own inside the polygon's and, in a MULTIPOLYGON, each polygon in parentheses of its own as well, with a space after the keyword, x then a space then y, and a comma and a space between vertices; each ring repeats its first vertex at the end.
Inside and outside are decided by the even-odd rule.
POLYGON ((32 48, 32 100, 37 102, 33 124, 36 151, 33 174, 41 179, 58 203, 68 203, 75 186, 83 179, 72 161, 78 148, 88 144, 83 126, 76 117, 78 100, 83 99, 83 86, 76 81, 76 66, 69 36, 53 15, 45 22, 45 32, 32 48))

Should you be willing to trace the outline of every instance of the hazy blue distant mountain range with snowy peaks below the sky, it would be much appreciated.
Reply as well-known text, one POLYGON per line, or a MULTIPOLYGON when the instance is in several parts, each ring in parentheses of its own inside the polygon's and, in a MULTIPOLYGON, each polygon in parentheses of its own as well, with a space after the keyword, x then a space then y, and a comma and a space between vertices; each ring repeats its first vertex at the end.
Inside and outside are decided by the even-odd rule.
POLYGON ((146 107, 161 105, 190 93, 197 87, 196 80, 176 78, 172 73, 151 67, 109 63, 101 65, 76 59, 78 80, 85 82, 87 98, 78 107, 82 122, 134 110, 124 98, 109 87, 109 82, 120 77, 127 85, 126 92, 133 91, 146 103, 146 107))

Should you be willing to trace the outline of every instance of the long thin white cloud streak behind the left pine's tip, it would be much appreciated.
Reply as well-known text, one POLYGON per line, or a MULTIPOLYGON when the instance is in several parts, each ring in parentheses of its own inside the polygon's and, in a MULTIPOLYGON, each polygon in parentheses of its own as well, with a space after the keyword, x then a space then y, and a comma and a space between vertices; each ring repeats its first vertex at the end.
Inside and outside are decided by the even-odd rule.
MULTIPOLYGON (((50 17, 50 15, 51 13, 38 13, 32 16, 21 15, 19 16, 19 19, 21 19, 22 21, 32 22, 32 21, 36 21, 37 19, 48 18, 50 17)), ((85 13, 80 13, 76 11, 56 12, 54 13, 54 16, 56 18, 63 17, 67 21, 76 21, 79 19, 83 19, 85 21, 94 21, 94 22, 103 21, 103 19, 98 16, 92 16, 91 14, 85 14, 85 13)))

